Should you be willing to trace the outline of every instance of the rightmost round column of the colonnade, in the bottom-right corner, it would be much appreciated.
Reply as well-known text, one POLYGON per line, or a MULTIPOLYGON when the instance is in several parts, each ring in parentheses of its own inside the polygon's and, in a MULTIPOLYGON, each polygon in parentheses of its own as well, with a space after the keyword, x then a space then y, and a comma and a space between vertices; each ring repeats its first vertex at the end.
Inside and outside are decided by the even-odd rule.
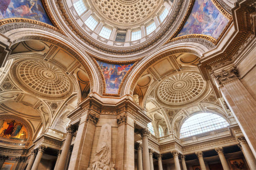
POLYGON ((243 136, 236 137, 238 143, 241 145, 241 149, 244 157, 246 158, 247 164, 251 170, 256 170, 256 160, 251 152, 251 149, 243 136))

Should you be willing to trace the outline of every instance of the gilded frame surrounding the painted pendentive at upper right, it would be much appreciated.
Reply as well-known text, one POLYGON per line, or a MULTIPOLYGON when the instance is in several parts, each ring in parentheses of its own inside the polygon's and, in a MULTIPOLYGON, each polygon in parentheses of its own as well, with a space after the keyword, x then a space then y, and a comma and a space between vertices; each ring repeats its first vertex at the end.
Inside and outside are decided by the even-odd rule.
POLYGON ((215 38, 213 38, 213 37, 211 37, 209 35, 203 35, 203 34, 189 34, 189 35, 183 35, 181 37, 175 37, 179 33, 179 31, 183 28, 183 26, 185 25, 189 15, 190 15, 190 12, 191 12, 191 10, 193 8, 193 5, 194 5, 194 2, 195 2, 195 0, 191 0, 191 2, 189 3, 190 7, 187 10, 187 13, 186 13, 186 15, 184 16, 184 18, 182 20, 182 24, 179 25, 178 29, 174 32, 174 34, 170 37, 170 39, 164 43, 164 45, 168 44, 169 42, 173 42, 173 41, 181 40, 181 39, 186 39, 186 38, 202 38, 202 39, 208 40, 208 41, 212 42, 214 45, 216 45, 218 43, 218 41, 220 40, 220 38, 225 33, 225 31, 228 29, 229 25, 231 24, 231 22, 232 22, 232 15, 230 15, 219 4, 219 2, 217 0, 211 0, 211 1, 215 5, 215 7, 220 11, 220 13, 222 13, 225 16, 225 18, 227 18, 229 20, 228 24, 225 26, 224 30, 221 32, 221 34, 218 37, 218 39, 215 39, 215 38), (193 5, 191 5, 191 4, 193 4, 193 5), (189 15, 187 15, 187 14, 189 14, 189 15))

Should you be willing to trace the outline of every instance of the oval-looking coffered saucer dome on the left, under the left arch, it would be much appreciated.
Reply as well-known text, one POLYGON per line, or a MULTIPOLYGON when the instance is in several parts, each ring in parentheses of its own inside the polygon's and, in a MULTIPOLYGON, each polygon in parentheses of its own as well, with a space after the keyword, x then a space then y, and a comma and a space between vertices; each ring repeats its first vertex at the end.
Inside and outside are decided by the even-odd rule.
POLYGON ((72 92, 69 77, 43 60, 20 60, 13 65, 13 77, 26 90, 44 98, 64 98, 72 92))

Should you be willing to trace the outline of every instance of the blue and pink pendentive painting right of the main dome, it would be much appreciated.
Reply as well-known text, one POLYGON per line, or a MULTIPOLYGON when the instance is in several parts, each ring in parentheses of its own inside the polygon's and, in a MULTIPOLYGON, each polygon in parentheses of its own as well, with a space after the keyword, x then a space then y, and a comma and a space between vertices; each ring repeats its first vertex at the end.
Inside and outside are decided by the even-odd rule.
POLYGON ((195 0, 192 11, 177 37, 203 34, 218 39, 228 22, 211 0, 195 0))

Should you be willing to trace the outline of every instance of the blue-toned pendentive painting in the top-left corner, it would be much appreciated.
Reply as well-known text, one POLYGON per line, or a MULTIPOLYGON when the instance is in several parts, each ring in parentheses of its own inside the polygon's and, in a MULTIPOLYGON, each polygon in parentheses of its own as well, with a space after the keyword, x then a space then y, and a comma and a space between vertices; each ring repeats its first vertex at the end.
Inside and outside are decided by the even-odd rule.
POLYGON ((0 20, 28 18, 53 25, 41 0, 0 0, 0 20))

